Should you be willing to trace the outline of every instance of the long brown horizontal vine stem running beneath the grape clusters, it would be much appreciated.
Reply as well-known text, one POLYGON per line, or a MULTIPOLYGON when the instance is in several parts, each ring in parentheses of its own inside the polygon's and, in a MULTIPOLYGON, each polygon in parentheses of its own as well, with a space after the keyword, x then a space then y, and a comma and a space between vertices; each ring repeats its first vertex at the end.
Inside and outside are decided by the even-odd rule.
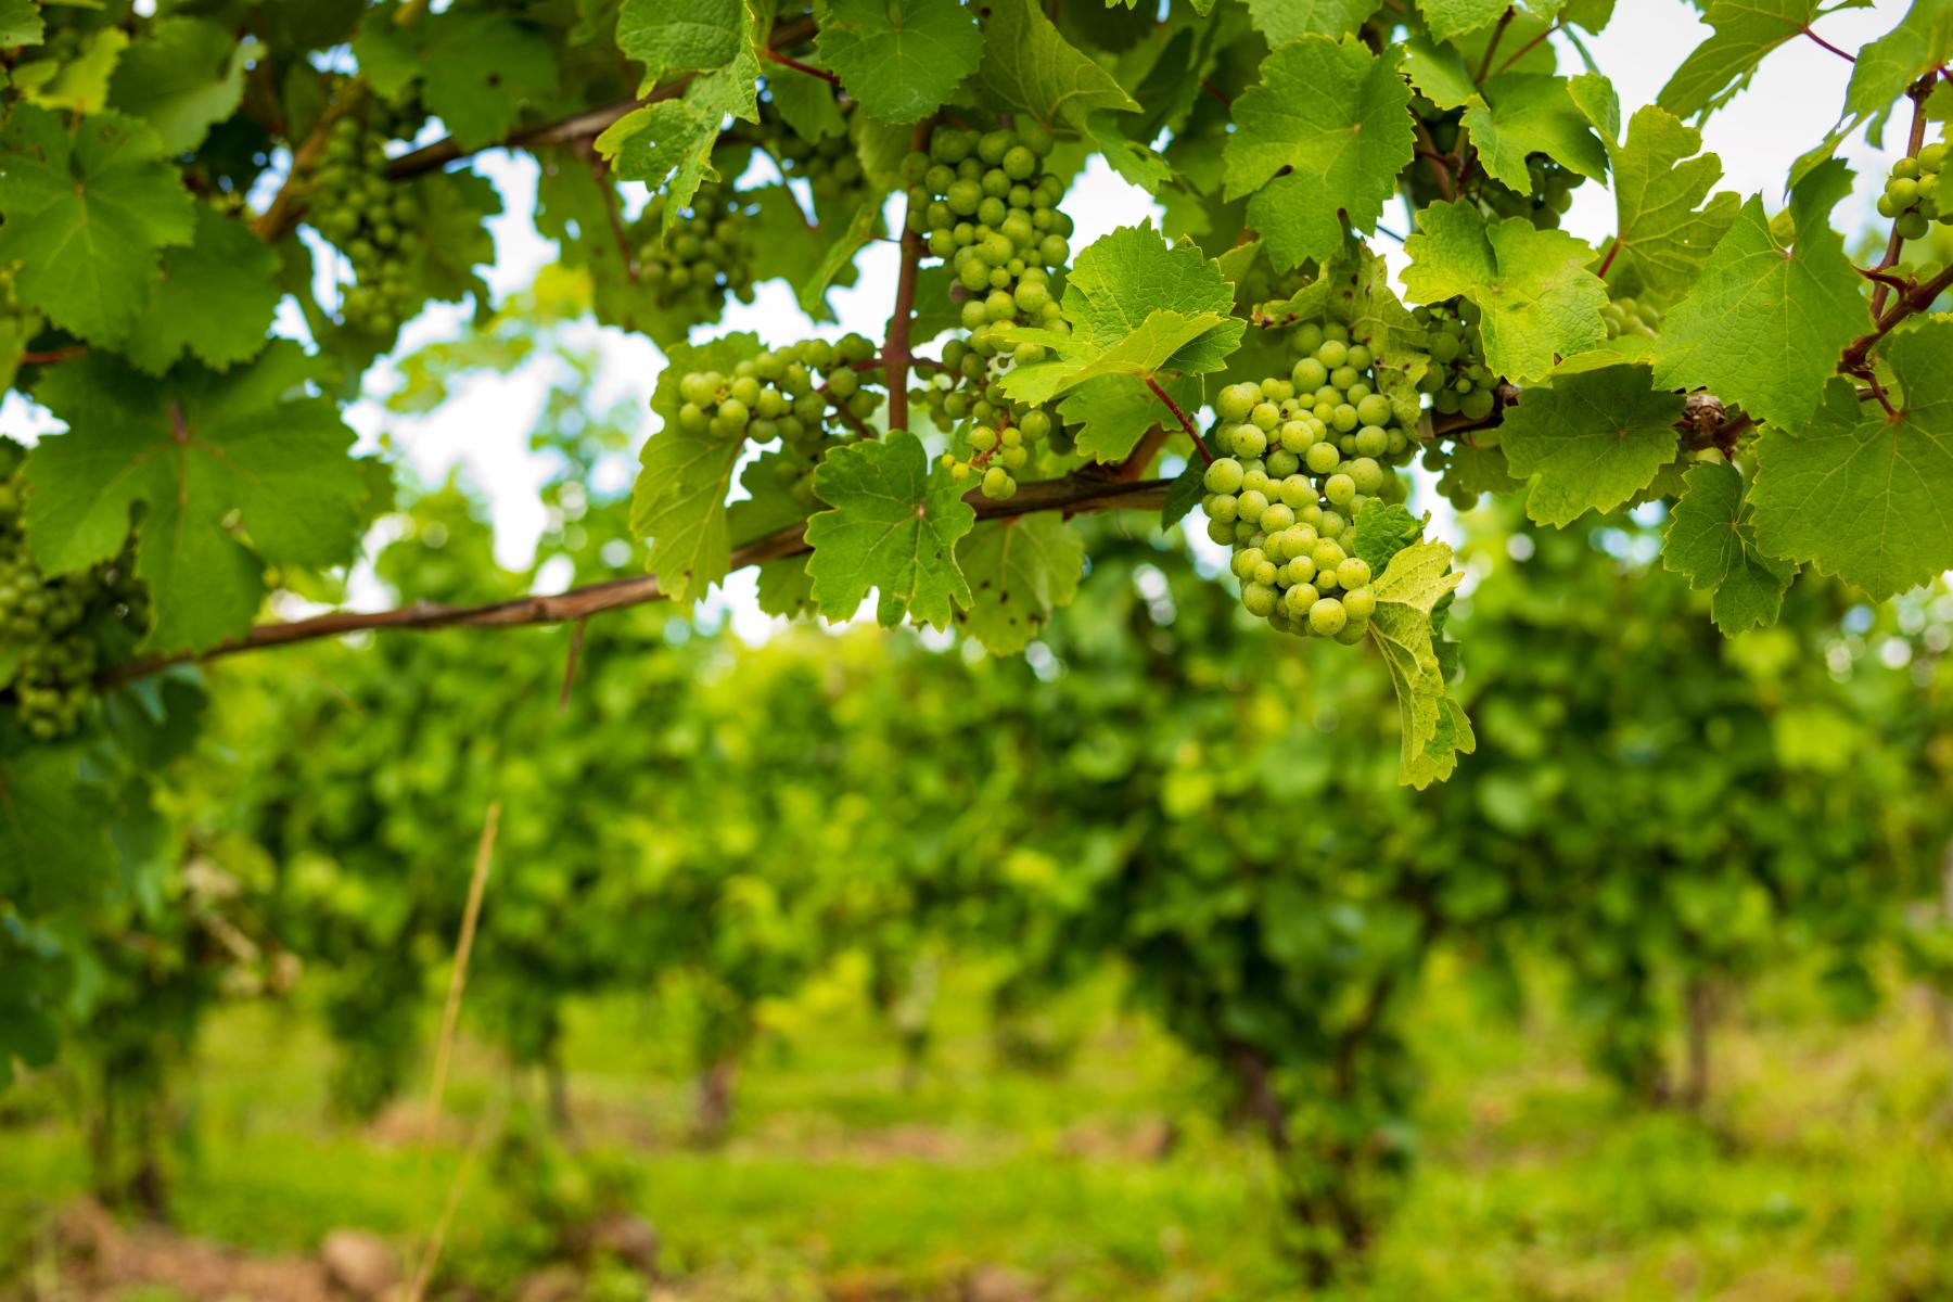
MULTIPOLYGON (((1033 480, 1018 488, 1018 496, 1008 502, 992 502, 973 488, 965 502, 978 519, 1004 519, 1012 515, 1035 515, 1037 511, 1064 511, 1066 515, 1086 515, 1098 511, 1158 511, 1166 502, 1172 480, 1117 482, 1107 478, 1066 476, 1057 480, 1033 480)), ((730 570, 779 560, 781 556, 801 556, 812 550, 807 545, 807 525, 795 523, 777 529, 762 539, 732 549, 730 570)), ((416 601, 391 611, 332 611, 311 619, 291 619, 283 623, 258 625, 246 636, 223 642, 207 652, 180 652, 170 656, 143 656, 117 666, 100 679, 104 689, 119 687, 150 673, 158 673, 174 664, 191 664, 236 656, 240 652, 268 650, 273 646, 293 646, 297 642, 316 642, 318 638, 346 636, 348 632, 379 632, 389 629, 430 632, 436 629, 519 629, 527 625, 561 625, 603 611, 619 611, 631 605, 664 601, 672 593, 658 586, 650 574, 633 578, 613 578, 586 588, 572 588, 541 597, 518 597, 514 601, 492 601, 488 605, 430 605, 416 601)))

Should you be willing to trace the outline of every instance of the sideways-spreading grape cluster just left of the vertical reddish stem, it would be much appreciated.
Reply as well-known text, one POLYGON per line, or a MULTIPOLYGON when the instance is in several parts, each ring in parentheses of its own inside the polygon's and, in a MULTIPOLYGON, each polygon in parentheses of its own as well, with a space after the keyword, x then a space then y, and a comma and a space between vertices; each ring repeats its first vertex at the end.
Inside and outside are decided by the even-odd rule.
POLYGON ((877 379, 875 346, 850 334, 840 342, 803 340, 719 371, 691 371, 678 381, 678 427, 715 439, 779 439, 781 484, 801 506, 814 506, 812 472, 828 449, 840 412, 861 422, 875 414, 881 396, 867 387, 877 379))

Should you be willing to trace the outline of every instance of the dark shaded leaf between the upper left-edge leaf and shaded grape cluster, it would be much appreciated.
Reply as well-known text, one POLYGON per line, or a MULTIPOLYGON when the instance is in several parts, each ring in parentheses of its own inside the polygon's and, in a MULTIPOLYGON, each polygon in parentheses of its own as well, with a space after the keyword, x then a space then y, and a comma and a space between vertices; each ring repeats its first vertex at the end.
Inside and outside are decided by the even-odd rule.
POLYGON ((162 256, 162 279, 123 355, 150 375, 186 351, 219 371, 248 361, 271 338, 277 299, 277 252, 244 223, 199 205, 195 242, 162 256))

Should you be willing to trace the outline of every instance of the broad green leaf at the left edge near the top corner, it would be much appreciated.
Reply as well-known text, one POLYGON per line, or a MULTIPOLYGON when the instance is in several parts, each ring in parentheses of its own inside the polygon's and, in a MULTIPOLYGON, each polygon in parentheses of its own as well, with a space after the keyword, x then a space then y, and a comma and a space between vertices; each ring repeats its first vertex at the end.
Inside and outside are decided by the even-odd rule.
POLYGON ((102 113, 64 117, 16 105, 0 127, 0 264, 14 289, 90 344, 127 338, 162 250, 187 244, 195 209, 148 127, 102 113))

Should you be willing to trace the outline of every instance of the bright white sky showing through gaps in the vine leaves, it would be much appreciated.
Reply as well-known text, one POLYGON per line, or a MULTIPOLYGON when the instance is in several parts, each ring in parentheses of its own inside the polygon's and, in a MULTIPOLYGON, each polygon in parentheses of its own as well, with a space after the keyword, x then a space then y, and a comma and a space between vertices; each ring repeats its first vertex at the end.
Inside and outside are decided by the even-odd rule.
MULTIPOLYGON (((1889 31, 1904 8, 1904 0, 1875 0, 1863 10, 1830 14, 1814 27, 1830 43, 1857 49, 1889 31)), ((1596 64, 1619 90, 1625 119, 1654 100, 1682 59, 1707 35, 1709 27, 1683 0, 1619 0, 1607 29, 1598 37, 1582 39, 1596 64)), ((1570 41, 1555 35, 1553 45, 1562 72, 1584 70, 1570 41)), ((1848 76, 1849 64, 1814 41, 1793 41, 1771 53, 1750 88, 1717 111, 1703 129, 1703 148, 1723 160, 1723 187, 1744 195, 1760 191, 1771 207, 1781 203, 1783 178, 1791 160, 1810 148, 1838 119, 1848 76)), ((1848 230, 1873 219, 1871 205, 1879 193, 1881 178, 1898 154, 1892 146, 1902 148, 1902 133, 1891 131, 1883 150, 1871 148, 1861 137, 1848 141, 1840 150, 1859 174, 1853 197, 1838 213, 1848 230)), ((488 176, 504 195, 506 213, 492 221, 496 262, 484 273, 492 293, 500 299, 527 287, 535 271, 555 260, 555 244, 541 238, 529 221, 537 176, 529 156, 492 150, 478 154, 475 168, 488 176)), ((1148 195, 1113 176, 1101 160, 1094 160, 1078 178, 1064 199, 1064 209, 1076 223, 1076 234, 1070 240, 1074 250, 1117 226, 1158 217, 1148 195)), ((1398 207, 1387 211, 1383 224, 1402 232, 1408 228, 1408 219, 1398 207)), ((1596 244, 1611 238, 1613 201, 1609 193, 1594 183, 1576 189, 1564 228, 1596 244)), ((1400 248, 1387 238, 1379 238, 1377 248, 1392 264, 1392 269, 1400 269, 1400 248)), ((848 330, 881 338, 894 297, 896 250, 885 242, 871 244, 863 250, 859 265, 857 283, 830 295, 840 318, 834 324, 816 328, 795 306, 791 291, 775 281, 762 285, 752 305, 728 305, 725 320, 695 332, 695 338, 732 330, 752 330, 775 346, 810 334, 834 338, 848 330)), ((463 320, 463 308, 437 305, 402 332, 398 351, 412 351, 428 342, 451 338, 461 330, 463 320)), ((277 328, 281 334, 297 338, 305 334, 289 301, 277 328)), ((641 336, 594 324, 582 332, 582 338, 572 338, 596 347, 603 357, 592 404, 602 406, 621 396, 635 398, 644 404, 646 416, 641 435, 648 437, 652 426, 648 398, 664 365, 662 353, 641 336)), ((465 478, 490 504, 498 556, 504 564, 525 566, 545 527, 539 488, 553 468, 549 459, 529 451, 527 439, 541 412, 551 375, 549 359, 531 361, 510 375, 480 375, 461 385, 455 398, 437 412, 420 418, 393 416, 369 396, 352 404, 348 422, 359 431, 363 447, 373 447, 381 433, 391 435, 400 459, 422 482, 437 482, 451 468, 461 467, 465 478)), ((379 396, 391 387, 393 369, 381 361, 367 375, 367 392, 379 396)), ((0 431, 31 437, 45 429, 59 429, 59 426, 49 422, 45 412, 31 410, 16 394, 10 394, 0 406, 0 431)), ((629 472, 629 463, 603 467, 605 478, 611 480, 627 478, 629 472)), ((1439 515, 1434 527, 1443 535, 1449 525, 1443 502, 1435 500, 1426 506, 1432 506, 1439 515)), ((562 578, 562 574, 539 574, 537 590, 561 588, 562 578)), ((369 580, 353 584, 352 595, 353 605, 383 605, 387 599, 385 591, 369 580)), ((725 590, 707 603, 703 613, 730 617, 734 632, 748 640, 764 638, 771 629, 771 621, 760 613, 754 601, 750 570, 730 576, 725 590)))

